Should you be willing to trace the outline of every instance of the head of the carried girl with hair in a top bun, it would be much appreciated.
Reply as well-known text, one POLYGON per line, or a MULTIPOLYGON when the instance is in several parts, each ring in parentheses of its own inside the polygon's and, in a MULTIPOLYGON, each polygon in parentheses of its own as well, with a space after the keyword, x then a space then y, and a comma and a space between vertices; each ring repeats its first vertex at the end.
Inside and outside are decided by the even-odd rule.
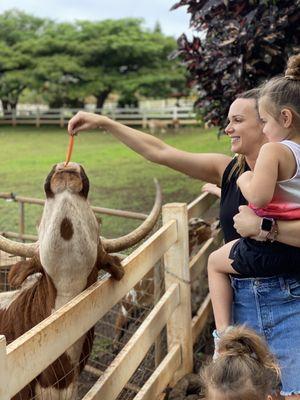
POLYGON ((261 87, 259 114, 270 141, 300 132, 300 54, 289 58, 284 76, 272 78, 261 87))

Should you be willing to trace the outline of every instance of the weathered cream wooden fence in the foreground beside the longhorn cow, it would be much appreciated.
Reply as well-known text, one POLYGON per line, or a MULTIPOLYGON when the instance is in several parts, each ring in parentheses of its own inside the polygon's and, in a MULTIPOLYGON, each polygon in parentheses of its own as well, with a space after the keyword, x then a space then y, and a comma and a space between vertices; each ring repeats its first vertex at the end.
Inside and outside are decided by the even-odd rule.
POLYGON ((168 352, 134 400, 157 399, 193 368, 193 343, 211 312, 209 296, 191 318, 191 277, 199 276, 222 234, 209 239, 189 261, 188 219, 201 215, 215 201, 210 194, 193 203, 167 204, 163 225, 122 261, 124 278, 104 278, 47 319, 6 346, 0 337, 0 399, 9 400, 88 331, 164 258, 166 291, 148 317, 115 357, 83 400, 116 399, 156 338, 167 326, 168 352), (180 323, 179 323, 180 321, 180 323), (28 360, 30 359, 30 362, 28 360))

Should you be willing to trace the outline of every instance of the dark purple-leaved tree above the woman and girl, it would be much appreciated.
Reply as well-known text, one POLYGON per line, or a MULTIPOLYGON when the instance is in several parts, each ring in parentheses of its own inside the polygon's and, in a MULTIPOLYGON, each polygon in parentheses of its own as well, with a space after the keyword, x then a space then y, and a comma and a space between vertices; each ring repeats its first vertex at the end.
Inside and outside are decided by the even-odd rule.
POLYGON ((181 0, 199 36, 178 39, 179 56, 196 87, 205 121, 224 125, 230 103, 245 90, 282 73, 300 51, 300 0, 181 0))

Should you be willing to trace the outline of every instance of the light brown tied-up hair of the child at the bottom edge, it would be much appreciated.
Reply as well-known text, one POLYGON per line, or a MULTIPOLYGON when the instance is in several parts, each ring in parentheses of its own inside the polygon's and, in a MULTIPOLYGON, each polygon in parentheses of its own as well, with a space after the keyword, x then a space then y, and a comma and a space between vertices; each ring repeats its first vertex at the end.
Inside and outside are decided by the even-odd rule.
POLYGON ((226 400, 262 400, 276 389, 279 367, 254 331, 232 328, 221 337, 218 350, 218 358, 200 372, 207 400, 214 390, 226 400))

